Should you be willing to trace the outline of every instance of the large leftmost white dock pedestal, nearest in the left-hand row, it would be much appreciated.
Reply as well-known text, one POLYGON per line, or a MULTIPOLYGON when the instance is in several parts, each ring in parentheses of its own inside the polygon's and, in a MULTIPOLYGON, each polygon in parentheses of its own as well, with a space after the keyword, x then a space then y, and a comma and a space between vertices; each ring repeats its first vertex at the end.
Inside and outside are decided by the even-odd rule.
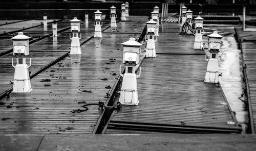
POLYGON ((13 81, 13 93, 28 93, 32 91, 29 70, 30 63, 27 65, 26 56, 29 55, 29 39, 30 37, 19 32, 18 35, 11 38, 13 40, 13 56, 16 57, 16 65, 12 66, 15 68, 14 81, 13 81))

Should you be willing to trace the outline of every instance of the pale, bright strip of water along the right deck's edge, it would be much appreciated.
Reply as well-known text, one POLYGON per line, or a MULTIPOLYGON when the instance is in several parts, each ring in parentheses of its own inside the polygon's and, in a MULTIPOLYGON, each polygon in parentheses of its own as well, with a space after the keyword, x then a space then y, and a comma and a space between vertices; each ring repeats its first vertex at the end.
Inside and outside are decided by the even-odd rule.
POLYGON ((223 77, 220 77, 220 83, 228 103, 244 131, 247 128, 248 112, 245 109, 245 103, 242 101, 244 100, 242 95, 245 85, 242 79, 241 52, 238 49, 236 39, 232 35, 222 38, 221 53, 219 70, 223 77))

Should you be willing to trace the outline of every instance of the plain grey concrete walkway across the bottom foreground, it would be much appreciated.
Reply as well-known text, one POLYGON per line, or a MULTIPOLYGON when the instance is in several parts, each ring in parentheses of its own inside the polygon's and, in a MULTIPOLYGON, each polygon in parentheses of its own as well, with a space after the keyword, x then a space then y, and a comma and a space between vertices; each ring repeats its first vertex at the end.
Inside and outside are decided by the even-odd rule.
POLYGON ((0 150, 256 150, 256 135, 0 135, 0 150))

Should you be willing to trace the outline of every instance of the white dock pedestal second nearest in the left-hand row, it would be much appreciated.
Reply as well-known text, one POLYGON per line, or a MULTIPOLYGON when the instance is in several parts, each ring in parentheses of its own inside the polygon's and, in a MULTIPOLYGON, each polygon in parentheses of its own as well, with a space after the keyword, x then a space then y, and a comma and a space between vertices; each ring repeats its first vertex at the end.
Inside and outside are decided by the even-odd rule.
POLYGON ((80 33, 80 21, 76 17, 74 19, 70 20, 71 23, 71 32, 72 32, 72 38, 71 33, 69 34, 69 37, 71 39, 71 47, 70 47, 70 55, 81 55, 81 46, 80 46, 80 39, 82 37, 80 33), (80 33, 80 38, 79 38, 80 33))

